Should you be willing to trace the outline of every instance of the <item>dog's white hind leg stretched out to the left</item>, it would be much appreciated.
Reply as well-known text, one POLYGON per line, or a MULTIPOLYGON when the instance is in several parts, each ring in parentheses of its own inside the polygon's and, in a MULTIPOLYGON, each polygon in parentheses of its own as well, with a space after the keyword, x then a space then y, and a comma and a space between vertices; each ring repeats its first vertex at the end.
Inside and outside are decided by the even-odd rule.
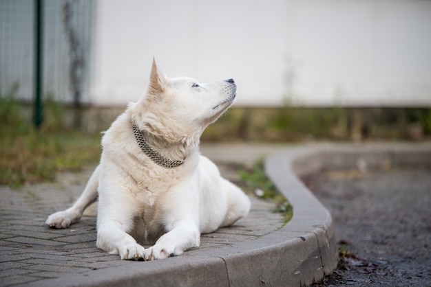
POLYGON ((78 200, 76 200, 76 203, 74 203, 72 207, 66 209, 65 211, 59 211, 51 214, 45 221, 46 225, 52 228, 61 229, 67 228, 81 220, 81 216, 83 216, 85 208, 97 200, 97 187, 100 169, 100 165, 98 165, 92 176, 90 176, 90 179, 85 186, 85 190, 81 196, 79 196, 78 200))

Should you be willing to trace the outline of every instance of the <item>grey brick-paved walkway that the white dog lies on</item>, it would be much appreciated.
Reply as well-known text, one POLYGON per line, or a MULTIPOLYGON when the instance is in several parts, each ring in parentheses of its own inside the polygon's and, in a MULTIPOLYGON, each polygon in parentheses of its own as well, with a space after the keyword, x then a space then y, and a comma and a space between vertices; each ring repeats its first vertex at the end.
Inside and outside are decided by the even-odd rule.
MULTIPOLYGON (((280 146, 203 145, 202 153, 218 163, 225 177, 238 181, 240 165, 251 165, 276 148, 280 146)), ((177 266, 182 264, 182 268, 189 269, 196 262, 209 260, 207 273, 190 274, 189 280, 193 285, 193 282, 206 280, 204 277, 196 279, 196 276, 217 274, 218 270, 211 270, 213 259, 206 257, 207 254, 216 249, 230 247, 233 250, 242 243, 268 235, 283 225, 282 216, 271 211, 274 208, 271 201, 251 196, 253 207, 249 216, 233 227, 202 235, 198 249, 169 258, 165 263, 163 260, 120 260, 118 255, 109 255, 96 248, 94 216, 84 216, 81 222, 69 229, 49 229, 44 224, 49 214, 69 207, 76 200, 92 170, 93 168, 88 168, 81 173, 60 173, 54 183, 27 185, 17 189, 0 187, 0 286, 106 285, 103 277, 107 273, 116 272, 118 277, 125 278, 126 284, 127 279, 133 277, 127 272, 136 266, 160 275, 160 264, 167 265, 169 262, 172 265, 175 262, 177 266), (199 260, 196 260, 197 257, 199 260)), ((215 264, 215 268, 218 268, 216 266, 218 264, 215 264)), ((132 284, 130 282, 128 284, 132 284)), ((149 279, 149 282, 156 282, 153 286, 175 284, 169 280, 160 283, 160 280, 149 279)), ((224 283, 220 282, 220 285, 224 283)))

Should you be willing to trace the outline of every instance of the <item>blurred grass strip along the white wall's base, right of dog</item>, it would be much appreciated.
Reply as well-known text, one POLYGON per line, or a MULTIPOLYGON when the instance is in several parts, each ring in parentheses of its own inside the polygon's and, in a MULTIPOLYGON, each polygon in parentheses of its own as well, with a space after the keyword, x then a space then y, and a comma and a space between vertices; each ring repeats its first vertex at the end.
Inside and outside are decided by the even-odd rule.
POLYGON ((431 108, 233 107, 202 141, 431 139, 431 108))

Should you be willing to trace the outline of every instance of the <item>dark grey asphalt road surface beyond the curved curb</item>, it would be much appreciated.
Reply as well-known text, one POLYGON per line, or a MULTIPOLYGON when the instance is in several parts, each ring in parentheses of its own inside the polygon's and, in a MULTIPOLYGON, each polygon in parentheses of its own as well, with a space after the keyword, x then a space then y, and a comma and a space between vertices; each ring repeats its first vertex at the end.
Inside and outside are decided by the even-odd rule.
POLYGON ((313 286, 431 286, 431 170, 303 178, 333 215, 339 266, 313 286))

